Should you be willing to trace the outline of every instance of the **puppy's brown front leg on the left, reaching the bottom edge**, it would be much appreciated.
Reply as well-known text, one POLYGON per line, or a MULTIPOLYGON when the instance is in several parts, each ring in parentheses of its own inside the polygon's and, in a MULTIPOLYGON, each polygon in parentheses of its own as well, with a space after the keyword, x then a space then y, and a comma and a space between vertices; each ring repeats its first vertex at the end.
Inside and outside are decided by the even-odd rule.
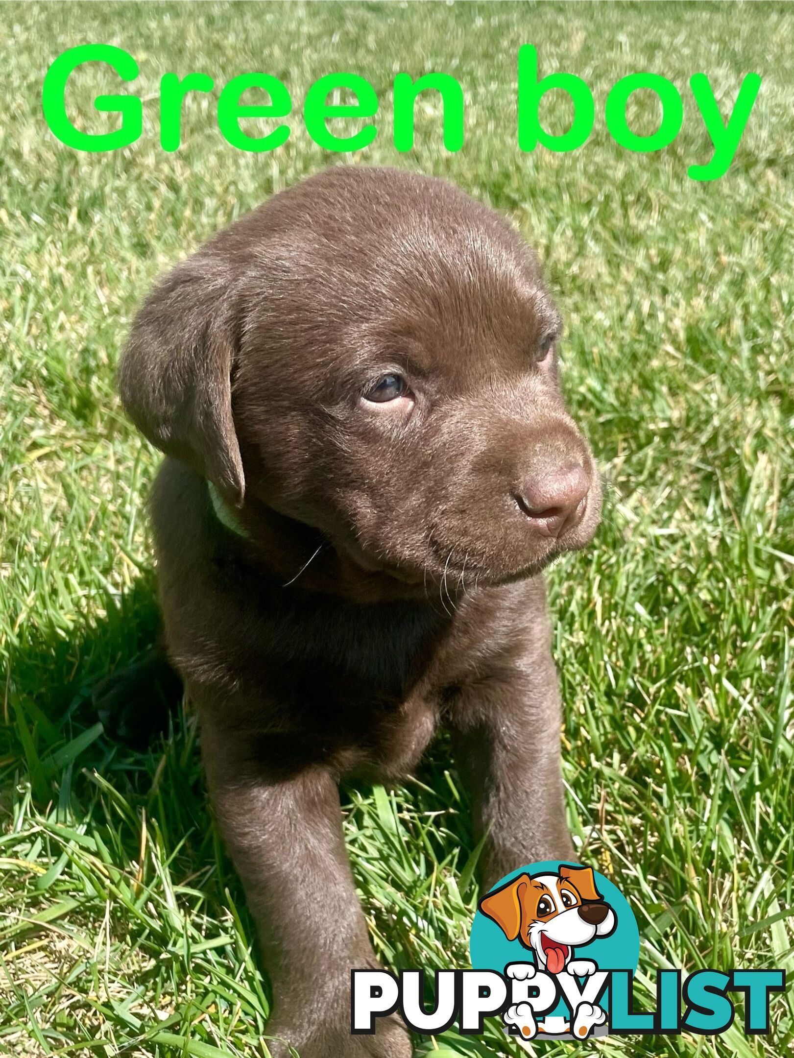
MULTIPOLYGON (((301 1058, 409 1058, 410 1038, 396 1018, 379 1019, 374 1036, 350 1036, 350 970, 377 963, 332 777, 321 768, 275 776, 203 717, 202 753, 273 985, 268 1036, 287 1040, 301 1058)), ((268 1046, 286 1058, 286 1046, 268 1046)))

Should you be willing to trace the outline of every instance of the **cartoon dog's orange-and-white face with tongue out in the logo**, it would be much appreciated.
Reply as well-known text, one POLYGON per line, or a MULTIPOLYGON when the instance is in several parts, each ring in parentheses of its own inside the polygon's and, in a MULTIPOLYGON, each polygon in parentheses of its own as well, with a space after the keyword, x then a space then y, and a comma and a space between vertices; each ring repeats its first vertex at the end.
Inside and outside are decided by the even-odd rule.
POLYGON ((521 874, 480 901, 508 941, 519 940, 535 954, 535 965, 561 973, 580 948, 609 936, 617 925, 612 908, 596 889, 589 867, 560 864, 557 874, 521 874))

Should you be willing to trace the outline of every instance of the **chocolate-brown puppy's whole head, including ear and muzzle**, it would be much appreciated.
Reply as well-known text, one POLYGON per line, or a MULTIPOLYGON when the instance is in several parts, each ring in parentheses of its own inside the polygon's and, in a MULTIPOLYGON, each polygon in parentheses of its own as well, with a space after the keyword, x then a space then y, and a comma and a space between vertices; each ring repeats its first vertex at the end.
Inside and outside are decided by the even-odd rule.
POLYGON ((178 266, 122 361, 143 433, 367 570, 497 583, 599 517, 536 258, 459 190, 336 167, 178 266))

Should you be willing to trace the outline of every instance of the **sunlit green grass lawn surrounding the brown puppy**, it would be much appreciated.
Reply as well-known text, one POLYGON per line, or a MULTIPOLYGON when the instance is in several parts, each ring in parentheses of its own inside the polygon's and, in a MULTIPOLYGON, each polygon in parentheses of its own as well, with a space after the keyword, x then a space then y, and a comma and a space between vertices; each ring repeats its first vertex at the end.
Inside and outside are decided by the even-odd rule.
MULTIPOLYGON (((184 146, 158 145, 160 75, 220 84, 261 69, 300 101, 348 69, 381 95, 357 156, 447 176, 539 249, 567 322, 565 385, 609 482, 603 525, 549 572, 565 703, 565 781, 582 858, 621 886, 657 966, 794 970, 794 13, 784 6, 3 5, 0 111, 0 1052, 265 1055, 268 985, 240 887, 212 829, 193 719, 149 753, 108 743, 87 689, 156 623, 144 516, 158 457, 125 421, 113 368, 154 277, 274 190, 322 166, 300 122, 277 153, 229 147, 206 98, 184 146), (141 63, 141 141, 80 154, 48 133, 43 72, 86 41, 141 63), (521 154, 516 53, 583 76, 596 127, 570 154, 521 154), (393 72, 467 93, 467 135, 391 145, 393 72), (650 156, 608 136, 606 94, 672 78, 684 129, 650 156), (723 109, 763 84, 716 183, 687 88, 723 109)), ((87 112, 109 74, 84 75, 87 112)), ((110 89, 112 90, 112 89, 110 89)), ((564 106, 549 108, 564 127, 564 106)), ((638 103, 636 127, 653 127, 638 103)), ((93 128, 106 118, 96 118, 93 128)), ((109 121, 109 118, 107 118, 109 121)), ((517 747, 517 752, 521 747, 517 747)), ((374 944, 392 967, 465 966, 475 888, 466 794, 444 740, 394 790, 344 791, 374 944)), ((650 1002, 644 984, 642 1004, 650 1002)), ((773 1035, 611 1039, 604 1055, 783 1054, 773 1035)), ((448 1037, 433 1046, 491 1054, 448 1037)), ((422 1044, 427 1048, 428 1041, 422 1044)), ((545 1054, 573 1053, 565 1045, 545 1054)), ((423 1053, 423 1051, 422 1051, 423 1053)), ((511 1050, 511 1055, 519 1052, 511 1050)))

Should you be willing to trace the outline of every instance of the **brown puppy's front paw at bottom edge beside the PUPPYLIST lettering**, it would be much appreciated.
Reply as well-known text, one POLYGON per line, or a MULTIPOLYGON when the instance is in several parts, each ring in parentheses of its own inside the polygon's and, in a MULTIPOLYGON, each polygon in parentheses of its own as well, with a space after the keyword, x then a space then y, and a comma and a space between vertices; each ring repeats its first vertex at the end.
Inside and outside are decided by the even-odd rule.
POLYGON ((349 1026, 281 1020, 269 1022, 266 1033, 272 1058, 291 1058, 290 1047, 300 1058, 411 1058, 413 1054, 408 1029, 395 1015, 378 1018, 373 1036, 354 1036, 349 1026))

